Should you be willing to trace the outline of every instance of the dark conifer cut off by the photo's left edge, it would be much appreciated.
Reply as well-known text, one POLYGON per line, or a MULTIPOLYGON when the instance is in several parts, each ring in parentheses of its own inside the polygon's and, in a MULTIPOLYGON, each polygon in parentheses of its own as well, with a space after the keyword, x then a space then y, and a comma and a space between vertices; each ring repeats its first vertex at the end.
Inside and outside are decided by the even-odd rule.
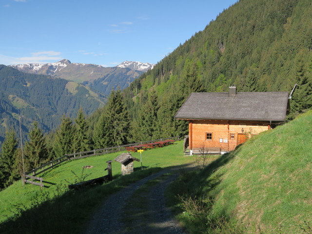
POLYGON ((17 178, 15 159, 17 154, 18 141, 13 129, 6 132, 2 143, 2 154, 0 157, 0 188, 7 187, 17 178))

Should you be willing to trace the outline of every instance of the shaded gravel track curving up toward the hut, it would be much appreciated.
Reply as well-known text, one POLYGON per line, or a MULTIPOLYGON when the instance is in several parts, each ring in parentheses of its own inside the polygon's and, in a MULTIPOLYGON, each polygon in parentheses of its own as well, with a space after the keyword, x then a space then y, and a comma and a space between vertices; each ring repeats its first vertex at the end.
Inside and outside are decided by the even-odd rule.
MULTIPOLYGON (((98 212, 93 216, 85 234, 184 234, 178 223, 174 220, 170 210, 165 206, 164 191, 166 186, 172 182, 178 172, 176 169, 168 169, 147 176, 132 185, 120 190, 106 199, 98 212), (134 221, 123 222, 126 213, 131 209, 131 195, 144 183, 153 180, 166 173, 159 183, 152 186, 148 193, 148 202, 144 204, 145 210, 149 212, 139 213, 134 211, 134 221), (129 208, 130 207, 130 208, 129 208), (110 214, 110 216, 107 216, 110 214), (128 226, 128 227, 127 227, 128 226)), ((136 204, 133 204, 134 206, 136 204)), ((127 217, 129 220, 129 217, 127 217)))

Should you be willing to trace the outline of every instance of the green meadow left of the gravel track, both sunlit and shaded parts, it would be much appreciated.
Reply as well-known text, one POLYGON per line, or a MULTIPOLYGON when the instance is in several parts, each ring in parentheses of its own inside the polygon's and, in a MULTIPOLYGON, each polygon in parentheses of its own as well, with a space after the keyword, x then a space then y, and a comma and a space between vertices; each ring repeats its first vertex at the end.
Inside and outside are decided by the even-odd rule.
MULTIPOLYGON (((113 181, 83 191, 68 191, 69 183, 82 177, 85 180, 107 175, 104 169, 107 160, 114 160, 120 153, 93 156, 71 160, 59 167, 39 175, 44 178, 49 188, 40 190, 39 186, 21 181, 0 192, 0 233, 78 233, 94 209, 106 196, 122 189, 130 183, 148 176, 162 168, 193 162, 192 157, 183 156, 183 141, 174 145, 147 150, 142 153, 141 163, 135 161, 135 173, 120 176, 120 163, 112 163, 113 181), (82 167, 94 168, 82 171, 82 167), (83 174, 82 174, 83 173, 83 174)), ((139 153, 132 156, 140 158, 139 153)))

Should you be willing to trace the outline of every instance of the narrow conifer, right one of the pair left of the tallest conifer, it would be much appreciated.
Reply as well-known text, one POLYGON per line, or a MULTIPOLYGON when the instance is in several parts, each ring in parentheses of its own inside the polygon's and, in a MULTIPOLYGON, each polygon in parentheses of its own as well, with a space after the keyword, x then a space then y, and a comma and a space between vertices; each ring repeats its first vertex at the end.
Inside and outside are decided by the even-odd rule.
POLYGON ((88 137, 88 125, 84 117, 83 111, 78 110, 76 122, 76 132, 74 135, 73 149, 75 152, 83 152, 90 150, 90 139, 88 137))

